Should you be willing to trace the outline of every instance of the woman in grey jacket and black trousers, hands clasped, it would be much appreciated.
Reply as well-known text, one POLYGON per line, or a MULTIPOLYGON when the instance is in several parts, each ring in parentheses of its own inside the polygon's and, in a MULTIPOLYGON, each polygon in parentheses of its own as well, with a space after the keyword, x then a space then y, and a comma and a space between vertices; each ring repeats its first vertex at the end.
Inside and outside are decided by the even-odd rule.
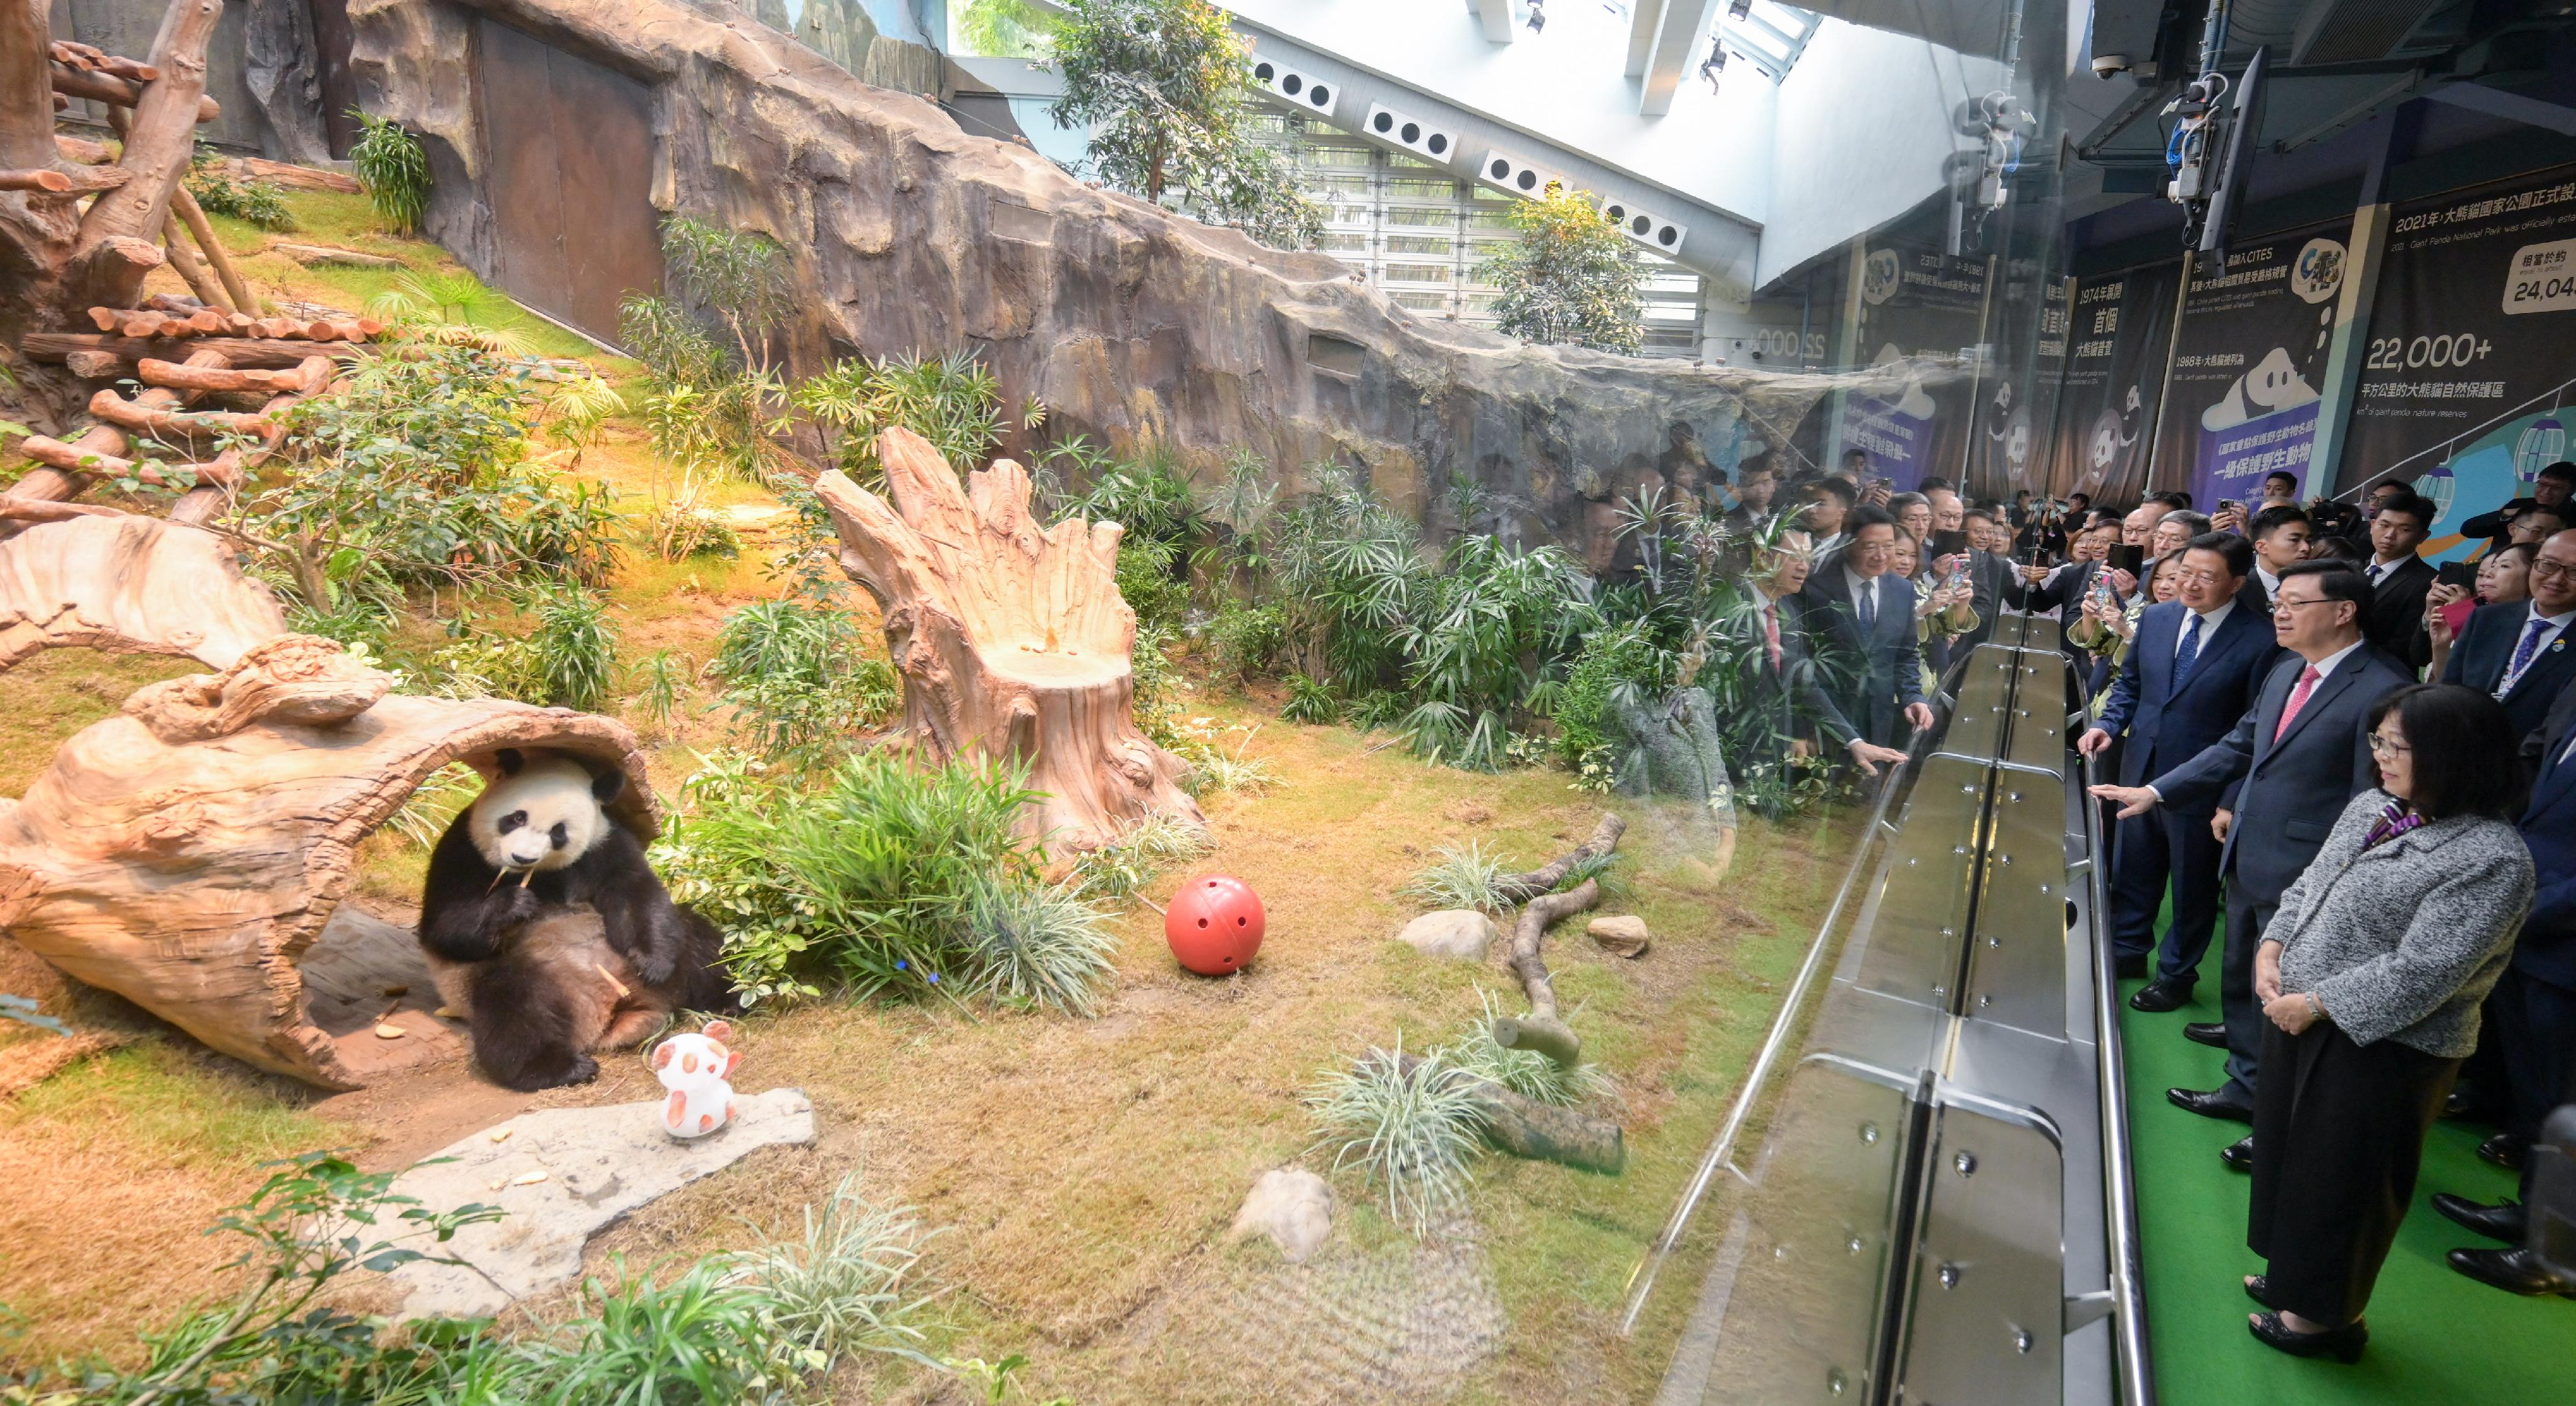
POLYGON ((2478 1002, 2532 906, 2504 708, 2411 685, 2370 711, 2380 788, 2334 821, 2254 955, 2264 1002, 2246 1244, 2254 1336, 2362 1354, 2362 1306, 2414 1200, 2424 1133, 2478 1045, 2478 1002), (2272 1074, 2280 1071, 2280 1074, 2272 1074))

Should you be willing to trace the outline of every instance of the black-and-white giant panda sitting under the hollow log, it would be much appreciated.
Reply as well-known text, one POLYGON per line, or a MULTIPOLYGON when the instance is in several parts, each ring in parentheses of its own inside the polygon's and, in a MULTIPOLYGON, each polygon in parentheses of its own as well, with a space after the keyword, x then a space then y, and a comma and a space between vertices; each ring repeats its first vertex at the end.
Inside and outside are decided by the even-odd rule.
POLYGON ((590 1051, 631 1045, 672 1009, 734 1009, 716 927, 670 899, 605 809, 626 775, 520 749, 495 765, 420 894, 420 945, 484 1074, 582 1084, 600 1071, 590 1051))

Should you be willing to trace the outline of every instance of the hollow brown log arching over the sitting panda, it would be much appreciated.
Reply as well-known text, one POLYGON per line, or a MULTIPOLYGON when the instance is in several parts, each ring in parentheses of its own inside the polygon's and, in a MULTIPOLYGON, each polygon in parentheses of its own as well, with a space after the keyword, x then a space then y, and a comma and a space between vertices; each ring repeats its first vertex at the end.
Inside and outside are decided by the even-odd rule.
POLYGON ((358 842, 438 767, 489 767, 502 747, 623 770, 611 811, 654 834, 623 724, 389 695, 337 644, 276 636, 222 675, 137 690, 121 716, 64 742, 23 801, 0 801, 0 927, 216 1051, 361 1087, 309 1020, 299 963, 350 891, 358 842))

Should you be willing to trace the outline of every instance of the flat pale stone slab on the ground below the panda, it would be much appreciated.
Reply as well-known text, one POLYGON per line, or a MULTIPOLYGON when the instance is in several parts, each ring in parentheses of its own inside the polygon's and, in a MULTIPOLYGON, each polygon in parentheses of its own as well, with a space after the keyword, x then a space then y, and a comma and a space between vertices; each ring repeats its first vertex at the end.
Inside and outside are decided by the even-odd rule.
POLYGON ((440 1148, 397 1177, 394 1195, 430 1210, 479 1200, 505 1215, 466 1226, 443 1246, 471 1267, 415 1262, 394 1270, 389 1277, 407 1290, 402 1316, 489 1318, 518 1298, 572 1282, 590 1236, 629 1210, 752 1148, 814 1141, 814 1100, 804 1089, 737 1094, 734 1107, 739 1118, 685 1143, 662 1130, 662 1100, 647 1100, 520 1112, 440 1148))

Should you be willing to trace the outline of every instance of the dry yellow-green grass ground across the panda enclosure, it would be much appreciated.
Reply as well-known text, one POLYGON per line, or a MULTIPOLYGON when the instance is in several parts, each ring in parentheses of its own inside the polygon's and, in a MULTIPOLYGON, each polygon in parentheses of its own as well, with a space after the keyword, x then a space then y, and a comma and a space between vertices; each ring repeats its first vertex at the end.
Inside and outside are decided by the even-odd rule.
MULTIPOLYGON (((428 245, 374 234, 355 198, 289 196, 294 239, 453 268, 428 245)), ((301 268, 258 252, 265 234, 216 221, 263 296, 363 306, 386 270, 301 268)), ((533 319, 538 350, 592 355, 533 319)), ((634 422, 611 422, 577 466, 641 507, 654 461, 634 422)), ((770 507, 750 487, 724 505, 770 507)), ((726 610, 775 595, 762 556, 659 564, 629 554, 611 587, 623 657, 670 649, 703 664, 726 610)), ((52 747, 108 716, 139 682, 185 664, 57 654, 0 677, 0 793, 41 773, 52 747)), ((665 793, 693 749, 721 736, 706 698, 649 729, 665 793)), ((629 708, 631 711, 631 708, 629 708)), ((1847 824, 1749 824, 1734 873, 1708 870, 1705 814, 1625 806, 1628 894, 1646 917, 1643 961, 1597 953, 1582 924, 1548 942, 1558 994, 1587 1051, 1618 1079, 1628 1169, 1595 1177, 1484 1159, 1468 1205, 1430 1241, 1386 1223, 1355 1177, 1334 1177, 1337 1231, 1298 1267, 1229 1244, 1252 1179, 1306 1161, 1301 1094, 1370 1045, 1450 1038, 1479 989, 1517 1004, 1499 953, 1484 966, 1394 942, 1414 906, 1396 888, 1445 842, 1479 839, 1535 865, 1592 829, 1597 803, 1566 775, 1427 767, 1347 729, 1280 724, 1255 700, 1206 693, 1249 734, 1280 785, 1211 803, 1216 852, 1193 870, 1249 881, 1270 937, 1242 976, 1175 968, 1159 919, 1118 919, 1118 989, 1097 1020, 809 1004, 744 1022, 747 1092, 804 1087, 819 1110, 809 1151, 760 1154, 600 1236, 592 1257, 696 1257, 742 1244, 737 1223, 793 1221, 850 1169, 876 1197, 917 1203, 945 1233, 940 1347, 1025 1352, 1033 1398, 1139 1401, 1631 1401, 1651 1396, 1677 1321, 1615 1334, 1628 1272, 1690 1177, 1839 878, 1847 824)), ((368 888, 417 883, 417 852, 371 842, 368 888)), ((1180 876, 1149 896, 1167 899, 1180 876)), ((0 1360, 64 1352, 131 1357, 139 1329, 219 1293, 227 1251, 198 1231, 240 1200, 258 1161, 317 1146, 407 1164, 528 1105, 654 1097, 641 1061, 536 1100, 448 1069, 399 1089, 319 1097, 204 1053, 108 997, 64 989, 0 940, 0 989, 46 997, 131 1043, 0 1094, 0 1303, 23 1334, 0 1360)), ((0 1027, 0 1061, 39 1035, 0 1027)), ((1687 1277, 1687 1267, 1677 1270, 1687 1277)), ((1669 1306, 1674 1313, 1687 1306, 1669 1306)), ((837 1383, 842 1401, 961 1401, 945 1378, 889 1370, 837 1383)))

